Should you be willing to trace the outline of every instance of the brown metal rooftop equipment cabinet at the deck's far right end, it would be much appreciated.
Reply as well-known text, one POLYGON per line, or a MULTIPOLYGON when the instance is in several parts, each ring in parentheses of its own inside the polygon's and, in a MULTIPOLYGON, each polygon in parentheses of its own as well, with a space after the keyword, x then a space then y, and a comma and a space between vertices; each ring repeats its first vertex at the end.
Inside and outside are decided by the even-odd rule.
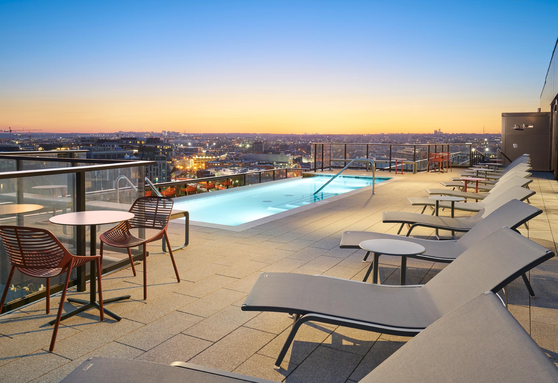
POLYGON ((552 138, 550 112, 502 113, 502 152, 511 161, 527 153, 533 170, 552 171, 552 138))

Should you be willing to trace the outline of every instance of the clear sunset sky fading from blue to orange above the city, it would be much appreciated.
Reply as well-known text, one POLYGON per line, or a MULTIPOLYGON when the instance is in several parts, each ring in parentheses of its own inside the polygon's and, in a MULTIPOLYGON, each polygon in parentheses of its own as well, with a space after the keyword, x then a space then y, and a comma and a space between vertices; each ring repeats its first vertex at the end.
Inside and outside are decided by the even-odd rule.
POLYGON ((536 111, 558 1, 2 1, 0 129, 481 133, 536 111))

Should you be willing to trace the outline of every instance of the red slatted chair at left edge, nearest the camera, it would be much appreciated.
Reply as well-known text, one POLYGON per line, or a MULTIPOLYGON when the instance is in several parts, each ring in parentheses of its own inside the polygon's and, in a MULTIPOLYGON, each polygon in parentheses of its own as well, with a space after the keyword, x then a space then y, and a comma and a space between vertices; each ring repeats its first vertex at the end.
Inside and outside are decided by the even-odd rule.
MULTIPOLYGON (((50 341, 49 351, 54 350, 56 342, 56 334, 60 325, 60 317, 62 316, 62 307, 66 299, 66 290, 70 282, 70 274, 73 268, 83 265, 87 262, 95 261, 97 265, 98 287, 99 287, 99 306, 100 319, 104 321, 103 312, 103 289, 101 287, 101 257, 95 256, 77 256, 71 254, 64 245, 48 230, 36 229, 35 227, 25 226, 0 226, 0 237, 4 249, 9 258, 12 269, 2 293, 2 301, 0 309, 4 306, 4 300, 8 293, 9 283, 12 280, 13 272, 17 268, 23 274, 30 275, 35 278, 46 278, 46 313, 50 312, 50 278, 66 273, 64 288, 62 289, 62 297, 60 297, 60 306, 56 314, 54 323, 54 332, 50 341)), ((95 283, 95 282, 92 282, 95 283)))

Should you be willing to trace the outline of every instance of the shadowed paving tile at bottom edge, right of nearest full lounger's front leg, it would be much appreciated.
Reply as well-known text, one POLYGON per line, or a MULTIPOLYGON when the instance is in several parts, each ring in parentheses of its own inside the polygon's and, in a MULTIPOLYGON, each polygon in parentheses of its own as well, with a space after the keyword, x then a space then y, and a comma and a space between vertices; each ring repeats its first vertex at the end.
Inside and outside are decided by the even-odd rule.
POLYGON ((342 383, 362 360, 362 356, 320 346, 288 376, 289 383, 342 383))

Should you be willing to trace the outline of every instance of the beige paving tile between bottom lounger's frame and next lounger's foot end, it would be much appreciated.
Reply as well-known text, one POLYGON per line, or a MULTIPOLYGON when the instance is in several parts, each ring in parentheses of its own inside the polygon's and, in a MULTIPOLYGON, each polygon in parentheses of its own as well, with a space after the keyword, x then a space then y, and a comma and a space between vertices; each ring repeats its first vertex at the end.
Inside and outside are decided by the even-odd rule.
POLYGON ((213 346, 190 360, 202 366, 233 371, 266 345, 273 334, 247 327, 239 327, 213 346))

